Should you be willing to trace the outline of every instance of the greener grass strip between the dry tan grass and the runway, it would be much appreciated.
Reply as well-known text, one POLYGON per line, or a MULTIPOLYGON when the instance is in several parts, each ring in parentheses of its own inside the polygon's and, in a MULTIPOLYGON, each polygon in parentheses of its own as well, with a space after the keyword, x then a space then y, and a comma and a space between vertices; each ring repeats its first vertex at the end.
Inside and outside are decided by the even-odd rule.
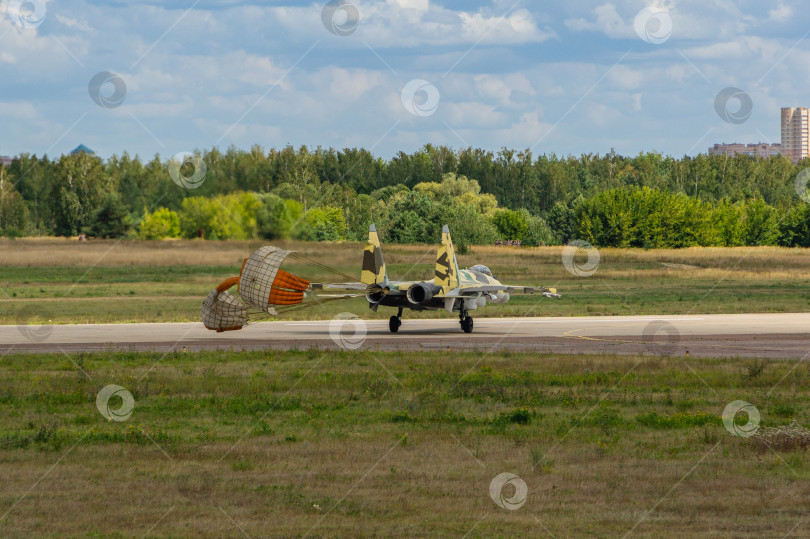
MULTIPOLYGON (((92 268, 0 267, 0 324, 15 324, 19 313, 35 313, 54 323, 122 323, 198 321, 200 303, 226 277, 230 266, 92 268), (86 273, 86 275, 85 275, 86 273)), ((392 274, 400 268, 393 268, 392 274)), ((621 268, 619 268, 621 269, 621 268)), ((405 273, 402 269, 401 273, 405 273)), ((510 283, 525 278, 502 272, 510 283)), ((570 277, 570 276, 569 276, 570 277)), ((574 279, 565 275, 541 281, 556 286, 560 300, 514 296, 505 305, 490 305, 478 316, 596 316, 743 312, 804 312, 810 309, 810 280, 673 276, 616 276, 574 279)), ((288 318, 331 318, 339 312, 368 318, 363 298, 302 312, 288 318)), ((444 313, 446 314, 446 313, 444 313)), ((412 318, 441 317, 442 312, 409 313, 412 318)), ((34 322, 35 320, 31 320, 34 322)))

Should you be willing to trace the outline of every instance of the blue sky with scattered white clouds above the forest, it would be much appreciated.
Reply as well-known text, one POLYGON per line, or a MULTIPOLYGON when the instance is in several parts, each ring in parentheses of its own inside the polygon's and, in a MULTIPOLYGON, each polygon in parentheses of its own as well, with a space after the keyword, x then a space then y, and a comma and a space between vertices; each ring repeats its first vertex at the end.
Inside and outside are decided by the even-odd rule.
POLYGON ((329 31, 325 2, 19 4, 0 1, 5 155, 289 143, 390 158, 433 143, 681 156, 779 142, 780 107, 810 106, 798 0, 352 0, 326 12, 347 35, 329 31), (103 106, 112 82, 90 96, 103 71, 118 106, 103 106), (751 98, 742 123, 715 111, 727 87, 751 98))

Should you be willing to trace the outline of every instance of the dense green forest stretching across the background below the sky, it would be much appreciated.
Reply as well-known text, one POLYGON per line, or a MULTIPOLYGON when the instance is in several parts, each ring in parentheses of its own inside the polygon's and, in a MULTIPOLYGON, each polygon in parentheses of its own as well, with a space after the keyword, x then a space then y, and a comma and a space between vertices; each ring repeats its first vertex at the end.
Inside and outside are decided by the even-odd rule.
MULTIPOLYGON (((197 155, 199 185, 173 179, 157 155, 18 156, 0 167, 0 234, 362 240, 374 222, 386 241, 435 243, 447 223, 462 248, 498 239, 810 246, 810 205, 796 187, 810 162, 777 157, 535 157, 431 145, 388 161, 290 146, 197 155)), ((182 165, 181 180, 195 170, 182 165)))

